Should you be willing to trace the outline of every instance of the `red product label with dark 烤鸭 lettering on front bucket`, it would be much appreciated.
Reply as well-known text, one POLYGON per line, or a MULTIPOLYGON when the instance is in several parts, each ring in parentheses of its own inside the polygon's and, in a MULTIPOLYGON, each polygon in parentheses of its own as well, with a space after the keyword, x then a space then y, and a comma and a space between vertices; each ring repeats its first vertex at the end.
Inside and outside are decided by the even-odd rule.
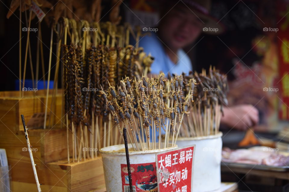
MULTIPOLYGON (((123 192, 129 190, 129 174, 126 164, 120 164, 123 192)), ((136 192, 157 192, 156 163, 130 164, 132 188, 136 192)))

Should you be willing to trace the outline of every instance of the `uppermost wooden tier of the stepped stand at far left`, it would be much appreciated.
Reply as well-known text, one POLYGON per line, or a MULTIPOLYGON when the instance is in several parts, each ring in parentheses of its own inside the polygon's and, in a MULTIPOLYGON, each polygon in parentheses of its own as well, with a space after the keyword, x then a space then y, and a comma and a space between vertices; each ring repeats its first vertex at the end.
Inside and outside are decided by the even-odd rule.
MULTIPOLYGON (((24 97, 20 97, 19 91, 0 91, 0 121, 14 133, 23 130, 21 114, 24 115, 25 122, 28 124, 34 114, 45 112, 45 90, 23 92, 24 97)), ((64 120, 61 119, 61 115, 63 115, 63 112, 61 112, 62 90, 57 91, 53 105, 51 105, 52 90, 50 90, 49 93, 47 114, 50 116, 50 121, 49 118, 47 118, 46 126, 47 128, 55 125, 61 126, 61 122, 64 122, 64 120)), ((31 128, 33 127, 30 127, 30 129, 31 128)))

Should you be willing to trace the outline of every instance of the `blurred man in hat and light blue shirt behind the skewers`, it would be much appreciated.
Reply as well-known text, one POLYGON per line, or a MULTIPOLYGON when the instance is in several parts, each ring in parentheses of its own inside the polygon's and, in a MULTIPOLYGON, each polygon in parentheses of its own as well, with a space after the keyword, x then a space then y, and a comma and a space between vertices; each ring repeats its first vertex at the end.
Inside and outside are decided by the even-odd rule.
MULTIPOLYGON (((201 32, 217 35, 224 30, 210 16, 210 6, 210 0, 163 1, 158 26, 139 41, 139 46, 155 58, 151 73, 192 71, 190 58, 183 48, 192 44, 201 32)), ((225 107, 221 119, 222 124, 238 130, 246 130, 258 122, 258 110, 252 105, 225 107)))

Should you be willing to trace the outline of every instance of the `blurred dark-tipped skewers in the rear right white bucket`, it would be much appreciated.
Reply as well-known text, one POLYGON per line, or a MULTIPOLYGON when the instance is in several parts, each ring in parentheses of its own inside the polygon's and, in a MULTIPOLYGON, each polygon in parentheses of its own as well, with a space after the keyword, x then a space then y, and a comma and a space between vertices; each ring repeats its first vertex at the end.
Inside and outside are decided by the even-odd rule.
POLYGON ((194 78, 194 99, 190 112, 181 125, 180 137, 202 137, 219 133, 223 107, 228 105, 227 77, 210 67, 202 73, 191 73, 188 78, 194 78))

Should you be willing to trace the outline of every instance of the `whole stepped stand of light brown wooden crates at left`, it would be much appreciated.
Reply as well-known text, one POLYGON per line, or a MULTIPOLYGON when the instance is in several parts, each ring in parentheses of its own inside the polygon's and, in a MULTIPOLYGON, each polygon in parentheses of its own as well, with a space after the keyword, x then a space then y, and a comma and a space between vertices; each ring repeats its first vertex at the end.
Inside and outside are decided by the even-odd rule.
MULTIPOLYGON (((6 149, 11 167, 11 190, 14 192, 36 191, 26 139, 20 114, 25 121, 29 116, 43 111, 45 96, 33 95, 25 98, 12 97, 18 93, 0 92, 0 148, 6 149), (8 95, 10 94, 10 97, 8 95), (41 100, 43 99, 43 101, 41 100), (43 103, 42 103, 43 102, 43 103), (31 105, 35 104, 31 110, 31 105)), ((62 96, 57 100, 56 116, 61 118, 62 96)), ((51 99, 51 98, 50 98, 51 99)), ((51 102, 51 101, 49 101, 51 102)), ((58 121, 59 121, 58 119, 58 121)), ((55 118, 55 122, 57 119, 55 118)), ((101 158, 87 159, 79 163, 67 164, 66 127, 59 124, 47 129, 29 129, 30 143, 42 191, 105 191, 101 158)), ((71 138, 70 138, 71 141, 71 138)), ((70 154, 72 155, 72 146, 70 154)))

